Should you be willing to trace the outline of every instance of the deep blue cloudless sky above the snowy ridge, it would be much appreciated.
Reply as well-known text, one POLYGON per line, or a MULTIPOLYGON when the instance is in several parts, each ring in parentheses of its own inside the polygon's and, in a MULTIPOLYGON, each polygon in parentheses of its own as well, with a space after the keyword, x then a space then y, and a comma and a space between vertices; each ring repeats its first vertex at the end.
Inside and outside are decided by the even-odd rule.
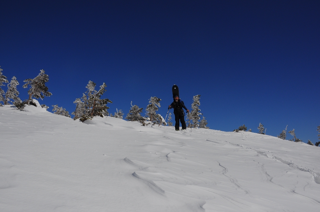
POLYGON ((157 96, 163 116, 177 84, 188 109, 201 95, 211 129, 261 122, 276 136, 288 125, 315 143, 319 11, 319 1, 1 1, 0 65, 21 99, 23 80, 44 69, 53 95, 40 103, 70 114, 89 80, 107 84, 110 112, 157 96))

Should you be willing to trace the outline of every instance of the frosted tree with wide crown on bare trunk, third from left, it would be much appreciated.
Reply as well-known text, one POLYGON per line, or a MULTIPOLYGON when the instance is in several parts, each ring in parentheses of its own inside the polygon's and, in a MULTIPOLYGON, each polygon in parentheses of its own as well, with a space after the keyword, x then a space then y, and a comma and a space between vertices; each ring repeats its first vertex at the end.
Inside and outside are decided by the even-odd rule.
POLYGON ((34 79, 24 80, 26 84, 23 85, 23 88, 28 88, 28 86, 30 86, 30 89, 28 90, 29 100, 31 97, 43 99, 44 96, 51 96, 52 93, 50 93, 48 87, 45 86, 45 83, 48 81, 49 76, 44 73, 43 69, 40 70, 40 73, 34 79))

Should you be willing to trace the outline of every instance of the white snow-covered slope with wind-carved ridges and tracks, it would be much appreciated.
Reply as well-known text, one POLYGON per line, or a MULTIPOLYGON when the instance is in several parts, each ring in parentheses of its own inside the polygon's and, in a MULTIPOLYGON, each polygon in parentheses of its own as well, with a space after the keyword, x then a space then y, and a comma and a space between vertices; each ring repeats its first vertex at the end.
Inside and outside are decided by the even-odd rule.
POLYGON ((0 211, 320 211, 320 148, 0 107, 0 211))

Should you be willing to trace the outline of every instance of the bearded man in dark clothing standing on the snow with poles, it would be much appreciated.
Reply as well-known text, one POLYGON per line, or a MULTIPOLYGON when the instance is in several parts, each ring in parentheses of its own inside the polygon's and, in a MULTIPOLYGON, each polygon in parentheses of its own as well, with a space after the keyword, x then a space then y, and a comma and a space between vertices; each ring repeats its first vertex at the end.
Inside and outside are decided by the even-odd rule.
POLYGON ((169 105, 169 109, 173 108, 173 113, 174 113, 174 120, 176 121, 176 124, 174 125, 176 130, 179 130, 179 120, 181 122, 182 125, 182 130, 187 129, 186 126, 186 122, 184 120, 184 111, 183 108, 185 110, 187 110, 187 113, 189 112, 189 110, 186 108, 186 106, 184 105, 183 101, 181 101, 181 99, 179 99, 179 96, 175 96, 174 97, 174 101, 171 103, 171 105, 169 105))

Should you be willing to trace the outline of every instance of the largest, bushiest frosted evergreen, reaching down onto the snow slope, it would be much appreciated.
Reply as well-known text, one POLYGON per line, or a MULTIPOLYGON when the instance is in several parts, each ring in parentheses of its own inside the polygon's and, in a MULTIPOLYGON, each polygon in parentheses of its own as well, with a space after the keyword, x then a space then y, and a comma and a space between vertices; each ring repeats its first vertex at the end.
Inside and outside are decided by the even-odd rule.
POLYGON ((99 91, 95 90, 96 84, 92 81, 88 82, 86 88, 88 89, 81 99, 76 99, 76 110, 72 113, 75 115, 74 120, 80 118, 80 121, 84 122, 87 119, 92 119, 95 116, 103 117, 103 114, 107 109, 107 103, 112 103, 109 99, 100 99, 106 92, 105 87, 107 85, 103 83, 100 86, 99 91))

